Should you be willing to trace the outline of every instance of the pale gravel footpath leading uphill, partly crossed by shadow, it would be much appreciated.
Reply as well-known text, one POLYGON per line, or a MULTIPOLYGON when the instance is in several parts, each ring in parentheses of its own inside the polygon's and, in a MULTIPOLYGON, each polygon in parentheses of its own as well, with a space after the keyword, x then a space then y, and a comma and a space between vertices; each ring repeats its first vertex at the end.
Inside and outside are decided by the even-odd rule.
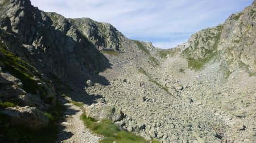
POLYGON ((90 133, 80 120, 82 111, 72 103, 64 103, 67 110, 64 112, 64 120, 60 123, 61 132, 57 142, 88 142, 96 143, 100 137, 90 133))

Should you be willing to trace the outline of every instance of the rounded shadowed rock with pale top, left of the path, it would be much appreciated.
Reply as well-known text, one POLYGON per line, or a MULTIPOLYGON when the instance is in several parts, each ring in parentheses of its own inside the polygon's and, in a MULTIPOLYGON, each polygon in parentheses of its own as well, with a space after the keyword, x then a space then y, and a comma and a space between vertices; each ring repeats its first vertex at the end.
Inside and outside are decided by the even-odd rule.
POLYGON ((9 107, 3 111, 10 118, 10 125, 23 125, 31 129, 39 129, 48 125, 49 119, 35 107, 9 107))

